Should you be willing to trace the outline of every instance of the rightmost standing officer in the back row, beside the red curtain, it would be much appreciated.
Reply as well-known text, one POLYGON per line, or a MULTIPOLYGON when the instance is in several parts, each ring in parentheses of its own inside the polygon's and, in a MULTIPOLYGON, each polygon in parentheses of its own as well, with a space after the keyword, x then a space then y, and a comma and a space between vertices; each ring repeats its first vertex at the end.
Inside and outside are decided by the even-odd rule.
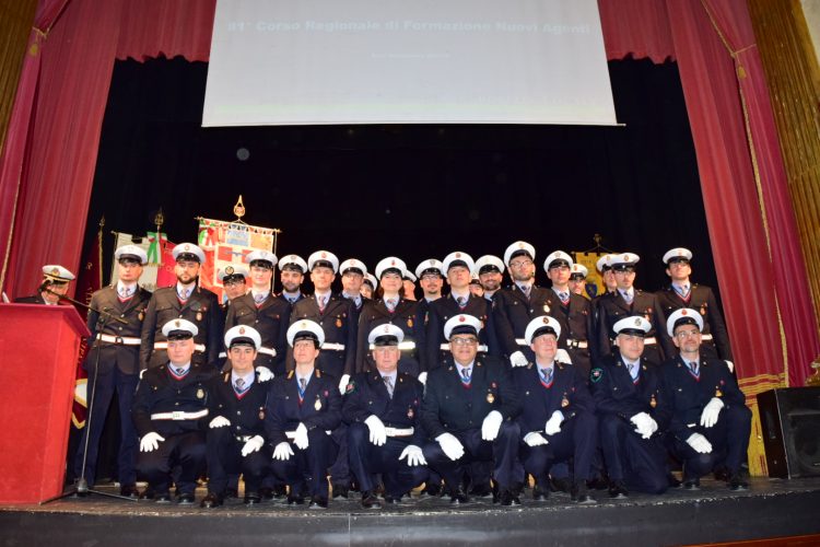
POLYGON ((717 299, 708 287, 689 281, 692 275, 691 261, 692 252, 688 248, 672 248, 664 255, 666 275, 671 282, 656 293, 660 309, 667 317, 682 307, 699 311, 703 321, 701 353, 706 359, 731 361, 729 335, 726 333, 717 299))

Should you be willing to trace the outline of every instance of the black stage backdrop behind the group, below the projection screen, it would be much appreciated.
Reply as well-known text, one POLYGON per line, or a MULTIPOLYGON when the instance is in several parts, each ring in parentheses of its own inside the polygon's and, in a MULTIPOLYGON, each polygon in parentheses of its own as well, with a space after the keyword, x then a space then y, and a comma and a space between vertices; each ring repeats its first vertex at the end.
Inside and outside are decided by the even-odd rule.
POLYGON ((639 288, 666 281, 660 258, 672 246, 695 254, 695 281, 717 286, 673 62, 609 62, 625 127, 203 129, 207 70, 181 58, 116 62, 86 241, 103 214, 106 230, 144 234, 160 207, 171 241, 195 241, 195 217, 231 220, 242 194, 245 221, 283 230, 279 256, 324 248, 373 269, 396 255, 414 269, 457 249, 502 256, 525 240, 547 284, 551 251, 585 251, 600 233, 605 246, 641 255, 639 288))

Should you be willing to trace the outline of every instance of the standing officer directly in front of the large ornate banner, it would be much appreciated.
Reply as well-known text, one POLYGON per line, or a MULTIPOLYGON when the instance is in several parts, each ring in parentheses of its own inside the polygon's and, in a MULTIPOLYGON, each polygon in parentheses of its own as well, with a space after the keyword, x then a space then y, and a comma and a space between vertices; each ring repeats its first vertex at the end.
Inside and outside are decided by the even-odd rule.
MULTIPOLYGON (((271 292, 273 267, 277 255, 268 251, 254 251, 247 256, 250 263, 251 288, 233 301, 225 318, 225 333, 237 325, 254 327, 259 333, 260 345, 257 348, 256 366, 265 368, 276 375, 285 372, 285 330, 290 322, 291 306, 271 292)), ((270 377, 260 371, 265 380, 270 377)))

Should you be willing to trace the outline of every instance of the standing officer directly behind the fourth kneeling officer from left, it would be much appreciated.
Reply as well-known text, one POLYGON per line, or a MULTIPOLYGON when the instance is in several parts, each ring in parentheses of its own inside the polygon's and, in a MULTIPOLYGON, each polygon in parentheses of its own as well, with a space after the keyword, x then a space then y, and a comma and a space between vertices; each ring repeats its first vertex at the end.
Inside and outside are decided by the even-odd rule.
MULTIPOLYGON (((359 340, 356 342, 356 372, 374 369, 368 353, 367 336, 377 326, 390 323, 405 334, 399 345, 401 358, 399 372, 419 377, 426 370, 423 360, 424 317, 419 312, 419 303, 407 300, 402 294, 402 272, 405 261, 395 256, 383 258, 376 265, 376 277, 382 284, 382 298, 365 303, 359 316, 359 340)), ((421 376, 424 379, 425 376, 421 376)))

